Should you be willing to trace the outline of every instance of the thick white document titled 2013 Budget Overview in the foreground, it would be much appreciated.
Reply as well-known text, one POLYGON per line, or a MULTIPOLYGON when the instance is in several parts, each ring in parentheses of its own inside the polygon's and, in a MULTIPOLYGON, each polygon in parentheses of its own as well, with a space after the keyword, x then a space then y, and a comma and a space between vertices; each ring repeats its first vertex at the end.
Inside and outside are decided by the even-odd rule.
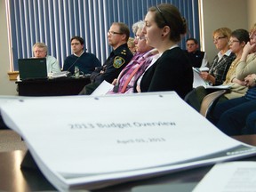
POLYGON ((102 188, 256 154, 175 92, 13 100, 2 105, 2 115, 59 190, 102 188))

